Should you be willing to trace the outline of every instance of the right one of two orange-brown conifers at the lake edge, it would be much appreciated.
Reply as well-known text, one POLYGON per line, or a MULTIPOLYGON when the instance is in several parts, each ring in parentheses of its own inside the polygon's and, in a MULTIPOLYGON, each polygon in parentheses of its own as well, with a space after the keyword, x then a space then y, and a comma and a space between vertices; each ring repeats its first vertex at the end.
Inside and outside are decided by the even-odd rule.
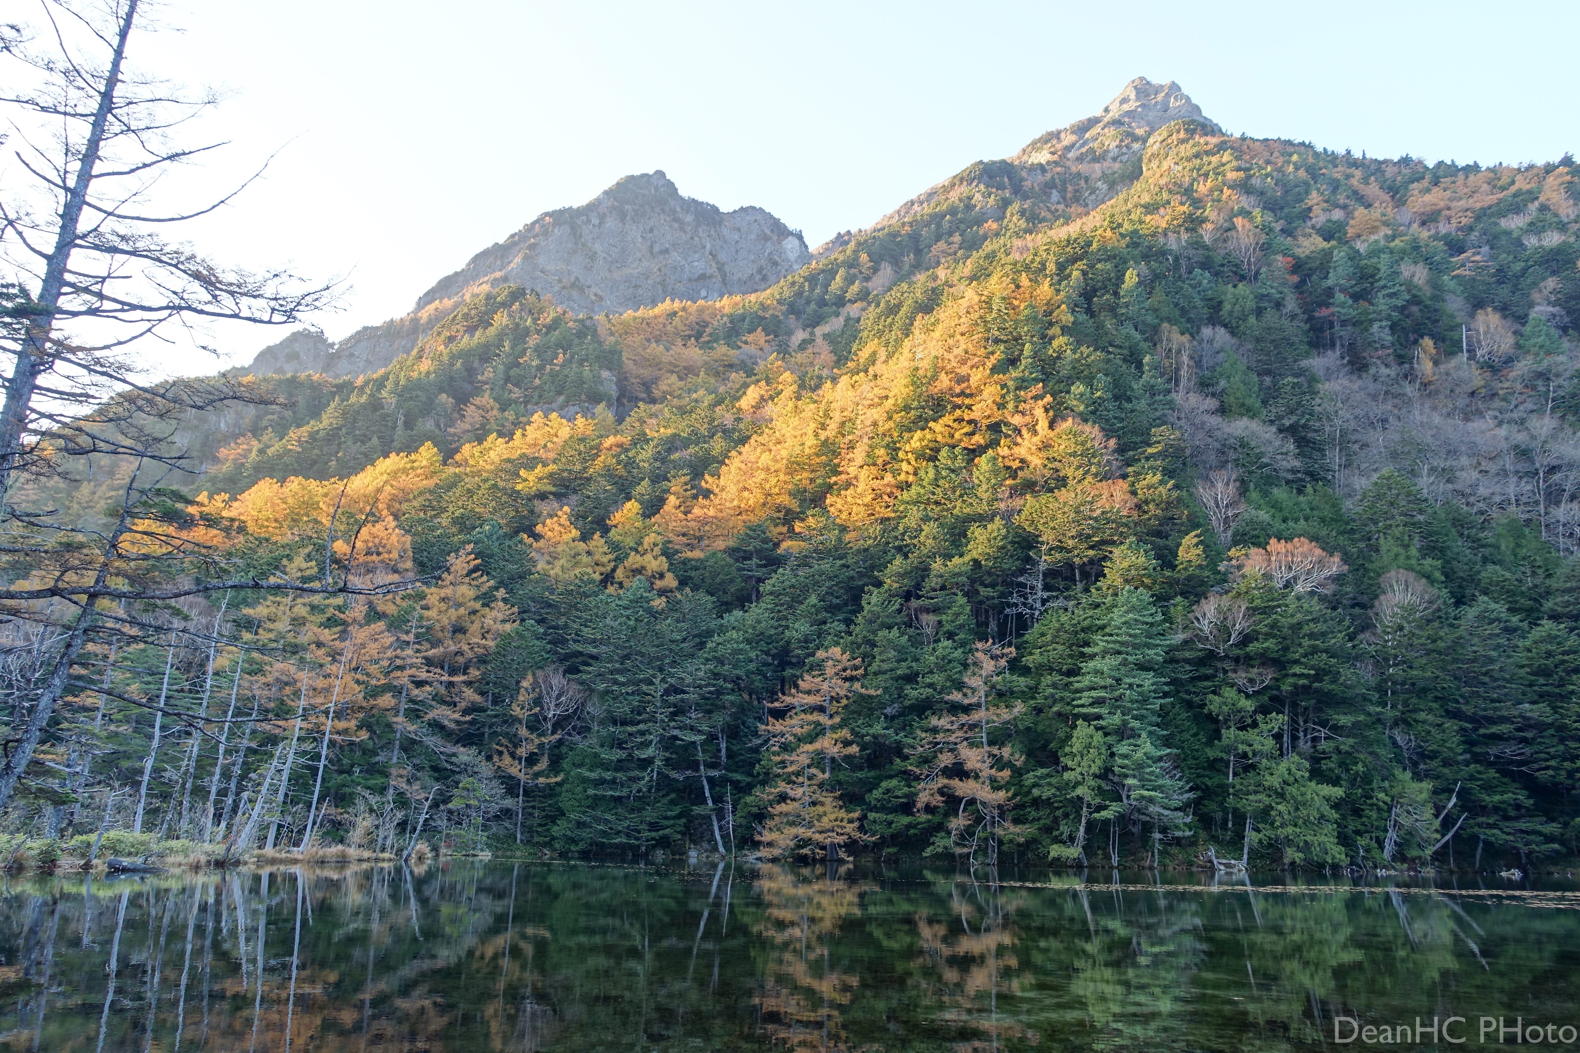
POLYGON ((912 769, 920 778, 920 811, 939 808, 945 799, 954 802, 950 843, 972 865, 983 853, 983 862, 997 867, 1000 841, 1021 832, 1010 823, 1010 775, 1021 756, 999 729, 1013 731, 1024 706, 999 703, 995 688, 1013 657, 1013 647, 986 641, 975 646, 961 690, 927 723, 920 763, 912 769))

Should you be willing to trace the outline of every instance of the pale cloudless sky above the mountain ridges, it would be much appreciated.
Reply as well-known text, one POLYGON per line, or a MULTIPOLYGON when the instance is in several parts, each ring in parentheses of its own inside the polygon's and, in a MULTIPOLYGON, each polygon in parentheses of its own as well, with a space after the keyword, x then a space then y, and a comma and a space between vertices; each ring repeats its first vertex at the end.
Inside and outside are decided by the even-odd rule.
MULTIPOLYGON (((185 32, 144 65, 231 92, 209 122, 231 158, 194 185, 284 147, 199 246, 349 275, 330 338, 629 172, 817 245, 1134 76, 1229 131, 1375 156, 1580 145, 1574 3, 174 0, 161 19, 185 32)), ((232 360, 275 336, 215 333, 232 360)))

